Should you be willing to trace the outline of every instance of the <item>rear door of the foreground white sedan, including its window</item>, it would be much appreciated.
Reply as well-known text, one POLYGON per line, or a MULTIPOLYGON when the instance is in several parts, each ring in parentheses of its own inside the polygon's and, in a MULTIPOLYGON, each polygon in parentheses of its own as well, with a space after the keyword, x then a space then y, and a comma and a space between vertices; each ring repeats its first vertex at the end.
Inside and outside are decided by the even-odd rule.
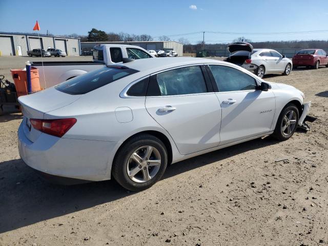
POLYGON ((153 74, 146 109, 172 136, 181 155, 219 145, 221 108, 203 65, 153 74))

